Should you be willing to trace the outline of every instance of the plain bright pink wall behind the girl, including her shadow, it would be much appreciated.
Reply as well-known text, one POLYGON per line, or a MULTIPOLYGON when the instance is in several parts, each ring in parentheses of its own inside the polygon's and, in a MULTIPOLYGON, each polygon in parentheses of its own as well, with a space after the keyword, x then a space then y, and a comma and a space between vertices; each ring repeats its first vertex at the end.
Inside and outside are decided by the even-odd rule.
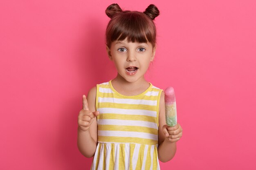
POLYGON ((175 88, 184 129, 162 170, 256 169, 255 0, 0 2, 0 169, 89 170, 76 146, 82 95, 115 77, 112 3, 160 10, 149 82, 175 88))

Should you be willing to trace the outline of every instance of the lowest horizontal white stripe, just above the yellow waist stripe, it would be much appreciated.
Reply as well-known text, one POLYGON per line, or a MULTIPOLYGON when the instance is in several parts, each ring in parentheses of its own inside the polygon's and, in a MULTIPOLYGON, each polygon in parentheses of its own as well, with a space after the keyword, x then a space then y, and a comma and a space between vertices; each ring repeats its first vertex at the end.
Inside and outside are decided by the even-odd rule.
POLYGON ((143 139, 158 140, 158 135, 145 132, 129 132, 129 131, 115 131, 115 130, 98 130, 98 136, 112 136, 112 137, 139 137, 143 139))

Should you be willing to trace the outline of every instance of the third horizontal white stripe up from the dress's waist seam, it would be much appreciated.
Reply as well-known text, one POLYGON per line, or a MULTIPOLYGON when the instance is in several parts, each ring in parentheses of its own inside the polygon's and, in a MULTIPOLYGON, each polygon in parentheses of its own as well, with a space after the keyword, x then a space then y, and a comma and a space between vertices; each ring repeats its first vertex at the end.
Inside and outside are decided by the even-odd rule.
POLYGON ((127 109, 124 108, 98 108, 99 113, 118 113, 124 115, 146 115, 157 117, 156 111, 151 110, 139 110, 139 109, 127 109))

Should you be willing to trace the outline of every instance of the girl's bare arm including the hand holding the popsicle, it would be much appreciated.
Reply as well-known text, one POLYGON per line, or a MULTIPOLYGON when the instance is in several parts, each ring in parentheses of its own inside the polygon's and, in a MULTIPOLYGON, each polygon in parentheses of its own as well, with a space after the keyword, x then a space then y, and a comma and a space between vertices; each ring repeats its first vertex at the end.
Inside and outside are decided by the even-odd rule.
POLYGON ((158 159, 162 162, 170 161, 176 153, 176 141, 182 136, 182 128, 179 124, 169 127, 165 122, 164 92, 162 92, 159 104, 159 128, 158 128, 158 159))

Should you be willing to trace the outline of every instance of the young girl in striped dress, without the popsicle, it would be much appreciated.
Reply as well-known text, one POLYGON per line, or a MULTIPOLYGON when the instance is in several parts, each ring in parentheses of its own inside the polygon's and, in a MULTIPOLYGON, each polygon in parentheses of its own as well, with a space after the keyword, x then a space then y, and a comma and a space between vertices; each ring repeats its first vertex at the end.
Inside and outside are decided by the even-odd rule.
POLYGON ((78 148, 94 156, 92 170, 159 170, 176 152, 182 137, 179 124, 165 123, 164 93, 144 79, 156 50, 152 20, 159 15, 150 4, 144 13, 106 9, 108 57, 117 77, 83 95, 78 117, 78 148))

